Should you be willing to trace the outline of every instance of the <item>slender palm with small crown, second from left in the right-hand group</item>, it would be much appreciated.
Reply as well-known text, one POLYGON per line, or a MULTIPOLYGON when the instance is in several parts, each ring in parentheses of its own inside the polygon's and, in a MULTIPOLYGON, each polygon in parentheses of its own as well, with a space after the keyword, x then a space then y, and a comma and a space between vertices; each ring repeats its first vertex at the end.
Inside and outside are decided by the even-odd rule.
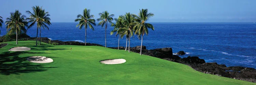
POLYGON ((100 15, 100 18, 97 19, 97 21, 100 21, 98 26, 103 27, 104 24, 105 24, 105 47, 106 47, 106 28, 108 27, 108 22, 110 24, 113 23, 112 22, 112 20, 113 20, 112 17, 114 17, 114 15, 113 14, 109 15, 108 11, 104 11, 102 13, 99 13, 99 15, 100 15))

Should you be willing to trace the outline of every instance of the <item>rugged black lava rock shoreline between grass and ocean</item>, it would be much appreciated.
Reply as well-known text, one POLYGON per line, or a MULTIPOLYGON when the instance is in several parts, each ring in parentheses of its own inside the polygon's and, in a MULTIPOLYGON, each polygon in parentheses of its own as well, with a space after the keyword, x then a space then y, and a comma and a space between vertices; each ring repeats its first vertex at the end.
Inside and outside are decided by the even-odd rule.
MULTIPOLYGON (((24 38, 20 40, 35 40, 33 37, 24 38)), ((41 39, 42 42, 56 45, 80 45, 84 46, 84 43, 78 41, 60 41, 50 40, 46 37, 41 39)), ((99 44, 86 43, 87 46, 102 46, 99 44)), ((117 47, 108 47, 111 49, 118 49, 117 47)), ((119 47, 120 50, 125 50, 125 47, 119 47)), ((128 49, 128 48, 127 48, 128 49)), ((130 51, 139 53, 140 46, 130 47, 130 51)), ((217 63, 206 63, 203 59, 197 56, 188 56, 181 58, 178 55, 172 54, 172 48, 160 48, 147 50, 146 46, 142 46, 142 54, 149 55, 163 60, 177 62, 190 66, 191 68, 208 74, 214 74, 221 77, 227 77, 232 79, 244 80, 256 83, 256 69, 240 66, 227 67, 226 65, 219 65, 217 63)))

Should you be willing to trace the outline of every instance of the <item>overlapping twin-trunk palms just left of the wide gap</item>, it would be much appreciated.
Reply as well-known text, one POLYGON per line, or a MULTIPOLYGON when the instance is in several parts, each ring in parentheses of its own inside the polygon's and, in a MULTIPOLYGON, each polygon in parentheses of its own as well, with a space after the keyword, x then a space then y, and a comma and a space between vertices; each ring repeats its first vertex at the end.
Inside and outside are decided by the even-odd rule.
POLYGON ((50 22, 50 18, 48 16, 50 16, 48 14, 48 12, 45 12, 44 9, 42 9, 42 7, 39 7, 39 6, 33 6, 32 7, 32 10, 33 12, 30 12, 30 11, 26 11, 28 14, 30 14, 30 17, 27 18, 29 21, 29 23, 31 23, 28 27, 31 28, 35 23, 37 23, 37 37, 36 37, 36 44, 35 46, 37 46, 37 39, 38 39, 38 29, 40 29, 40 44, 41 45, 41 27, 43 28, 48 28, 47 25, 50 25, 51 22, 50 22), (47 24, 47 25, 46 25, 47 24))

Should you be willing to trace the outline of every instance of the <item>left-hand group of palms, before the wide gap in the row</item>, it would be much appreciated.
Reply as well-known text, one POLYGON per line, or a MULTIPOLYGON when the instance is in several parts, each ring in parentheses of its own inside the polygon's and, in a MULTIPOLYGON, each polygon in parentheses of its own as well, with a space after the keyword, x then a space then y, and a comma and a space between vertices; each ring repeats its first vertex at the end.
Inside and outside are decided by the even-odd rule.
MULTIPOLYGON (((48 28, 47 25, 50 25, 50 18, 48 16, 49 13, 46 12, 42 6, 33 6, 32 7, 32 12, 26 11, 30 16, 26 18, 25 15, 22 15, 18 10, 16 10, 14 13, 11 13, 11 16, 6 18, 5 24, 6 24, 6 29, 8 30, 8 34, 16 33, 16 44, 18 44, 18 34, 21 32, 26 33, 27 29, 31 28, 34 26, 34 24, 37 24, 37 37, 36 37, 36 44, 37 46, 37 39, 38 39, 38 30, 40 30, 40 43, 41 45, 41 27, 48 28), (30 24, 29 24, 30 23, 30 24), (27 29, 26 29, 27 27, 27 29)), ((2 17, 0 17, 2 18, 2 17)), ((2 26, 2 19, 0 20, 2 26)))

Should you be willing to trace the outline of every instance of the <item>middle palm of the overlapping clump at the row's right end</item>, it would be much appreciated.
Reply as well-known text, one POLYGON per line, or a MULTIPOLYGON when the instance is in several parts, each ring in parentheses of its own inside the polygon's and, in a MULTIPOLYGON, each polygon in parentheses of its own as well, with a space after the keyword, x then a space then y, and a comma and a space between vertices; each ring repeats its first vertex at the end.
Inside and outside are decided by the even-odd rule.
POLYGON ((128 46, 128 52, 130 52, 130 38, 133 36, 133 27, 134 27, 134 21, 135 21, 136 15, 131 13, 126 13, 123 17, 124 26, 126 28, 124 34, 128 35, 129 40, 129 46, 128 46))

